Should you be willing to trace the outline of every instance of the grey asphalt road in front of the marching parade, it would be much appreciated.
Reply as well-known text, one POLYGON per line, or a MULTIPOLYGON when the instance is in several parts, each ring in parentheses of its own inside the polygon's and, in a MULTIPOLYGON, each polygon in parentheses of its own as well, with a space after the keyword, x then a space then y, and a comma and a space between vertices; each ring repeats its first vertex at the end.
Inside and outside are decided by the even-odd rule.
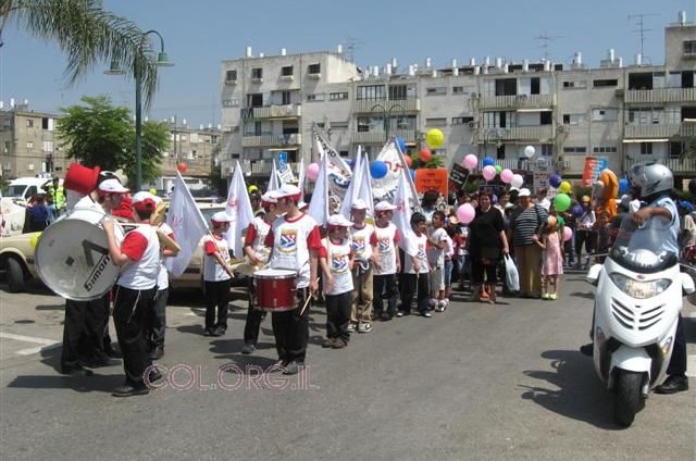
MULTIPOLYGON (((186 294, 167 310, 163 388, 119 399, 121 366, 57 372, 61 298, 0 286, 0 459, 696 459, 696 379, 650 395, 619 428, 611 394, 577 352, 589 286, 567 275, 562 292, 497 306, 458 295, 444 313, 377 322, 343 350, 321 348, 325 317, 313 307, 300 378, 263 373, 275 359, 270 317, 257 353, 241 356, 246 302, 235 301, 226 336, 209 338, 199 297, 186 294)), ((695 310, 684 312, 692 376, 695 310)))

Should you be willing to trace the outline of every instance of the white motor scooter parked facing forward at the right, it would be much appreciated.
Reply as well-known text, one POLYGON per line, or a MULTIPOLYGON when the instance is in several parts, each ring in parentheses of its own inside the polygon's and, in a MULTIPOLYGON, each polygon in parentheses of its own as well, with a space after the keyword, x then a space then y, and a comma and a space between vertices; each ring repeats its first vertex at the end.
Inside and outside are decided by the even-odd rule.
POLYGON ((695 289, 678 256, 661 251, 663 222, 652 217, 636 228, 631 217, 623 219, 605 263, 593 265, 586 278, 597 287, 595 371, 616 393, 614 420, 625 427, 662 382, 683 294, 695 289))

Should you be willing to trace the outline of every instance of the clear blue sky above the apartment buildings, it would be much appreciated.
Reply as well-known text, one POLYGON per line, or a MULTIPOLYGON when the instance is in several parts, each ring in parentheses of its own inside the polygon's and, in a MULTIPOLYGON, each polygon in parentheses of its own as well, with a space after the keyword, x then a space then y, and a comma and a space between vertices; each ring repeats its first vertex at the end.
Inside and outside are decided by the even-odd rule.
MULTIPOLYGON (((598 67, 610 48, 624 64, 641 52, 644 62, 664 62, 664 26, 679 11, 696 18, 696 0, 104 0, 105 9, 156 29, 175 63, 160 70, 151 120, 176 116, 192 127, 221 123, 221 62, 253 55, 310 51, 344 52, 361 67, 384 66, 396 58, 403 71, 476 63, 485 57, 538 62, 545 54, 569 65, 575 52, 598 67), (639 16, 642 15, 642 16, 639 16)), ((64 78, 65 54, 10 23, 0 47, 0 100, 28 100, 36 111, 59 113, 83 96, 107 95, 119 105, 135 107, 135 84, 95 68, 76 85, 64 78)), ((159 42, 153 42, 159 47, 159 42)))

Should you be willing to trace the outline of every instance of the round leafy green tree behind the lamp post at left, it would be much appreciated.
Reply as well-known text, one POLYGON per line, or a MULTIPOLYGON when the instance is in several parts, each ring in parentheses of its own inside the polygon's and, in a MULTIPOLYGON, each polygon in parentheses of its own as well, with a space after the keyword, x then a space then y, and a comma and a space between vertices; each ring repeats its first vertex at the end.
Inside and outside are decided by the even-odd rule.
MULTIPOLYGON (((102 170, 123 169, 133 186, 136 176, 135 126, 128 109, 114 107, 107 97, 84 97, 85 105, 61 109, 63 116, 55 132, 65 155, 87 166, 102 170)), ((152 182, 160 175, 161 153, 170 146, 166 125, 142 124, 142 179, 152 182)))

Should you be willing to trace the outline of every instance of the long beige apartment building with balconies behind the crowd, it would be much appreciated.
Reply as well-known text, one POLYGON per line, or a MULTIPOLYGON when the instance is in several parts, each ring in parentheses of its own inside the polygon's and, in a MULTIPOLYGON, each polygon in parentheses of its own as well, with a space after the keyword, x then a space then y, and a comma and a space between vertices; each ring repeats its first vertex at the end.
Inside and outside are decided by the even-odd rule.
POLYGON ((585 159, 601 157, 619 174, 658 160, 694 177, 696 162, 682 154, 696 126, 696 25, 683 12, 664 29, 664 57, 661 65, 639 55, 624 64, 609 50, 597 67, 575 53, 570 65, 486 58, 399 66, 391 59, 359 68, 340 48, 269 57, 247 48, 222 63, 223 175, 238 160, 262 182, 279 151, 307 164, 318 126, 346 157, 362 146, 374 158, 394 136, 417 150, 438 128, 446 142, 435 153, 449 165, 474 153, 518 172, 542 162, 580 178, 585 159), (537 153, 532 161, 526 146, 537 153))

